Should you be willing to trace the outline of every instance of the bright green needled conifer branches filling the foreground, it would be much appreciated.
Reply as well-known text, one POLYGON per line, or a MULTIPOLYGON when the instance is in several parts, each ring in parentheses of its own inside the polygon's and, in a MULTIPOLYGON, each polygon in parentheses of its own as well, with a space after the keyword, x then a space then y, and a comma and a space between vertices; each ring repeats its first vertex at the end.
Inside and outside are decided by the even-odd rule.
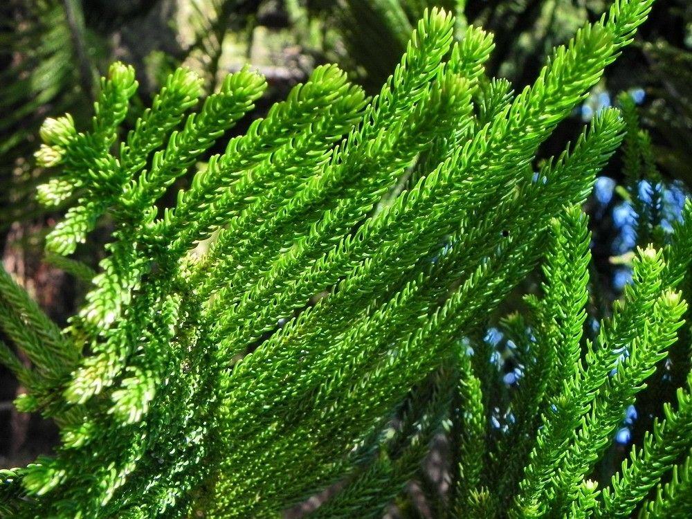
POLYGON ((453 457, 442 517, 626 514, 655 486, 648 510, 668 506, 689 484, 684 465, 660 486, 689 448, 686 393, 612 490, 587 478, 682 324, 692 219, 662 251, 639 252, 591 344, 578 207, 626 121, 602 111, 534 168, 650 5, 616 1, 516 96, 484 79, 488 34, 468 27, 453 44, 453 17, 426 11, 370 102, 320 66, 206 163, 264 78, 230 75, 186 116, 201 80, 179 69, 119 140, 137 83, 113 64, 90 131, 47 120, 37 152, 60 167, 39 201, 80 193, 46 239, 51 255, 113 222, 95 275, 54 261, 90 280, 84 307, 60 331, 0 276, 0 325, 33 364, 1 345, 28 389, 17 406, 55 419, 62 438, 3 474, 1 506, 17 518, 273 517, 334 486, 314 516, 379 517, 438 434, 453 457), (503 321, 525 374, 516 420, 493 430, 498 372, 475 338, 544 256, 543 296, 503 321))

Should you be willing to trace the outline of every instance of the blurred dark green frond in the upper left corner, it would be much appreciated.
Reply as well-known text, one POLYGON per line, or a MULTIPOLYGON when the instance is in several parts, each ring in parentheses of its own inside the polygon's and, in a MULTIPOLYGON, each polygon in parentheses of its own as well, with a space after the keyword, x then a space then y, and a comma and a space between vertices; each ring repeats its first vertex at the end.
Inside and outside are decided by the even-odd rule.
MULTIPOLYGON (((26 161, 37 129, 46 116, 91 102, 93 80, 89 57, 78 59, 87 35, 81 14, 69 18, 73 1, 7 4, 0 20, 0 62, 8 63, 0 71, 0 228, 37 212, 33 192, 45 175, 26 161)), ((95 44, 91 50, 100 52, 95 44)))

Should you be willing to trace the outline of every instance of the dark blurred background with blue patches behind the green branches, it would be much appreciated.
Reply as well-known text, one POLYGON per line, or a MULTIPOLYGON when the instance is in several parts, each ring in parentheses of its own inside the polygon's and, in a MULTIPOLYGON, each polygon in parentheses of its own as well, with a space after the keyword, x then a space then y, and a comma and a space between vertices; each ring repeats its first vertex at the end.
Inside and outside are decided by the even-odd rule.
MULTIPOLYGON (((89 121, 98 78, 113 60, 131 63, 140 89, 133 125, 166 75, 177 66, 197 71, 206 92, 224 76, 250 63, 270 88, 252 116, 262 116, 311 69, 336 62, 376 93, 392 73, 406 42, 428 6, 457 15, 456 37, 468 24, 495 34, 489 77, 511 80, 515 91, 533 82, 550 49, 567 42, 585 21, 610 6, 605 0, 4 0, 0 3, 0 251, 5 268, 61 324, 88 288, 44 257, 42 241, 57 213, 34 201, 47 173, 35 165, 38 128, 48 116, 69 112, 78 128, 89 121)), ((545 145, 543 157, 559 152, 599 109, 623 105, 630 135, 597 181, 586 210, 593 231, 590 314, 608 315, 630 276, 637 245, 663 244, 692 188, 692 2, 657 0, 635 45, 606 71, 590 98, 545 145)), ((232 130, 243 133, 251 118, 232 130)), ((219 149, 223 149, 221 143, 219 149)), ((217 152, 219 150, 213 150, 217 152)), ((189 179, 181 178, 175 190, 189 179)), ((69 202, 68 202, 69 203, 69 202)), ((162 204, 172 203, 164 199, 162 204)), ((107 240, 109 223, 96 241, 107 240)), ((98 244, 98 243, 97 243, 98 244)), ((78 259, 96 266, 101 247, 83 247, 78 259)), ((536 289, 537 277, 522 291, 536 289)), ((688 280, 689 283, 689 280, 688 280)), ((689 291, 687 292, 690 293, 689 291)), ((502 312, 520 304, 510 300, 502 312)), ((498 314, 499 315, 499 314, 498 314)), ((511 338, 489 316, 480 338, 495 349, 494 366, 507 392, 520 376, 512 363, 511 338)), ((590 325, 588 323, 588 325, 590 325)), ((595 326, 590 330, 595 334, 595 326)), ((632 407, 617 441, 601 463, 610 477, 632 441, 641 439, 660 401, 671 399, 689 371, 689 329, 668 363, 632 407)), ((30 462, 57 441, 40 417, 19 415, 12 400, 21 392, 0 368, 0 467, 30 462)), ((498 401, 503 397, 498 395, 498 401)), ((502 406, 498 404, 498 409, 502 406)), ((507 419, 498 415, 498 427, 507 419)), ((444 456, 432 453, 430 464, 444 456)), ((444 462, 442 463, 444 465, 444 462)), ((428 476, 435 471, 428 467, 428 476)), ((415 492, 415 489, 412 489, 415 492)))

